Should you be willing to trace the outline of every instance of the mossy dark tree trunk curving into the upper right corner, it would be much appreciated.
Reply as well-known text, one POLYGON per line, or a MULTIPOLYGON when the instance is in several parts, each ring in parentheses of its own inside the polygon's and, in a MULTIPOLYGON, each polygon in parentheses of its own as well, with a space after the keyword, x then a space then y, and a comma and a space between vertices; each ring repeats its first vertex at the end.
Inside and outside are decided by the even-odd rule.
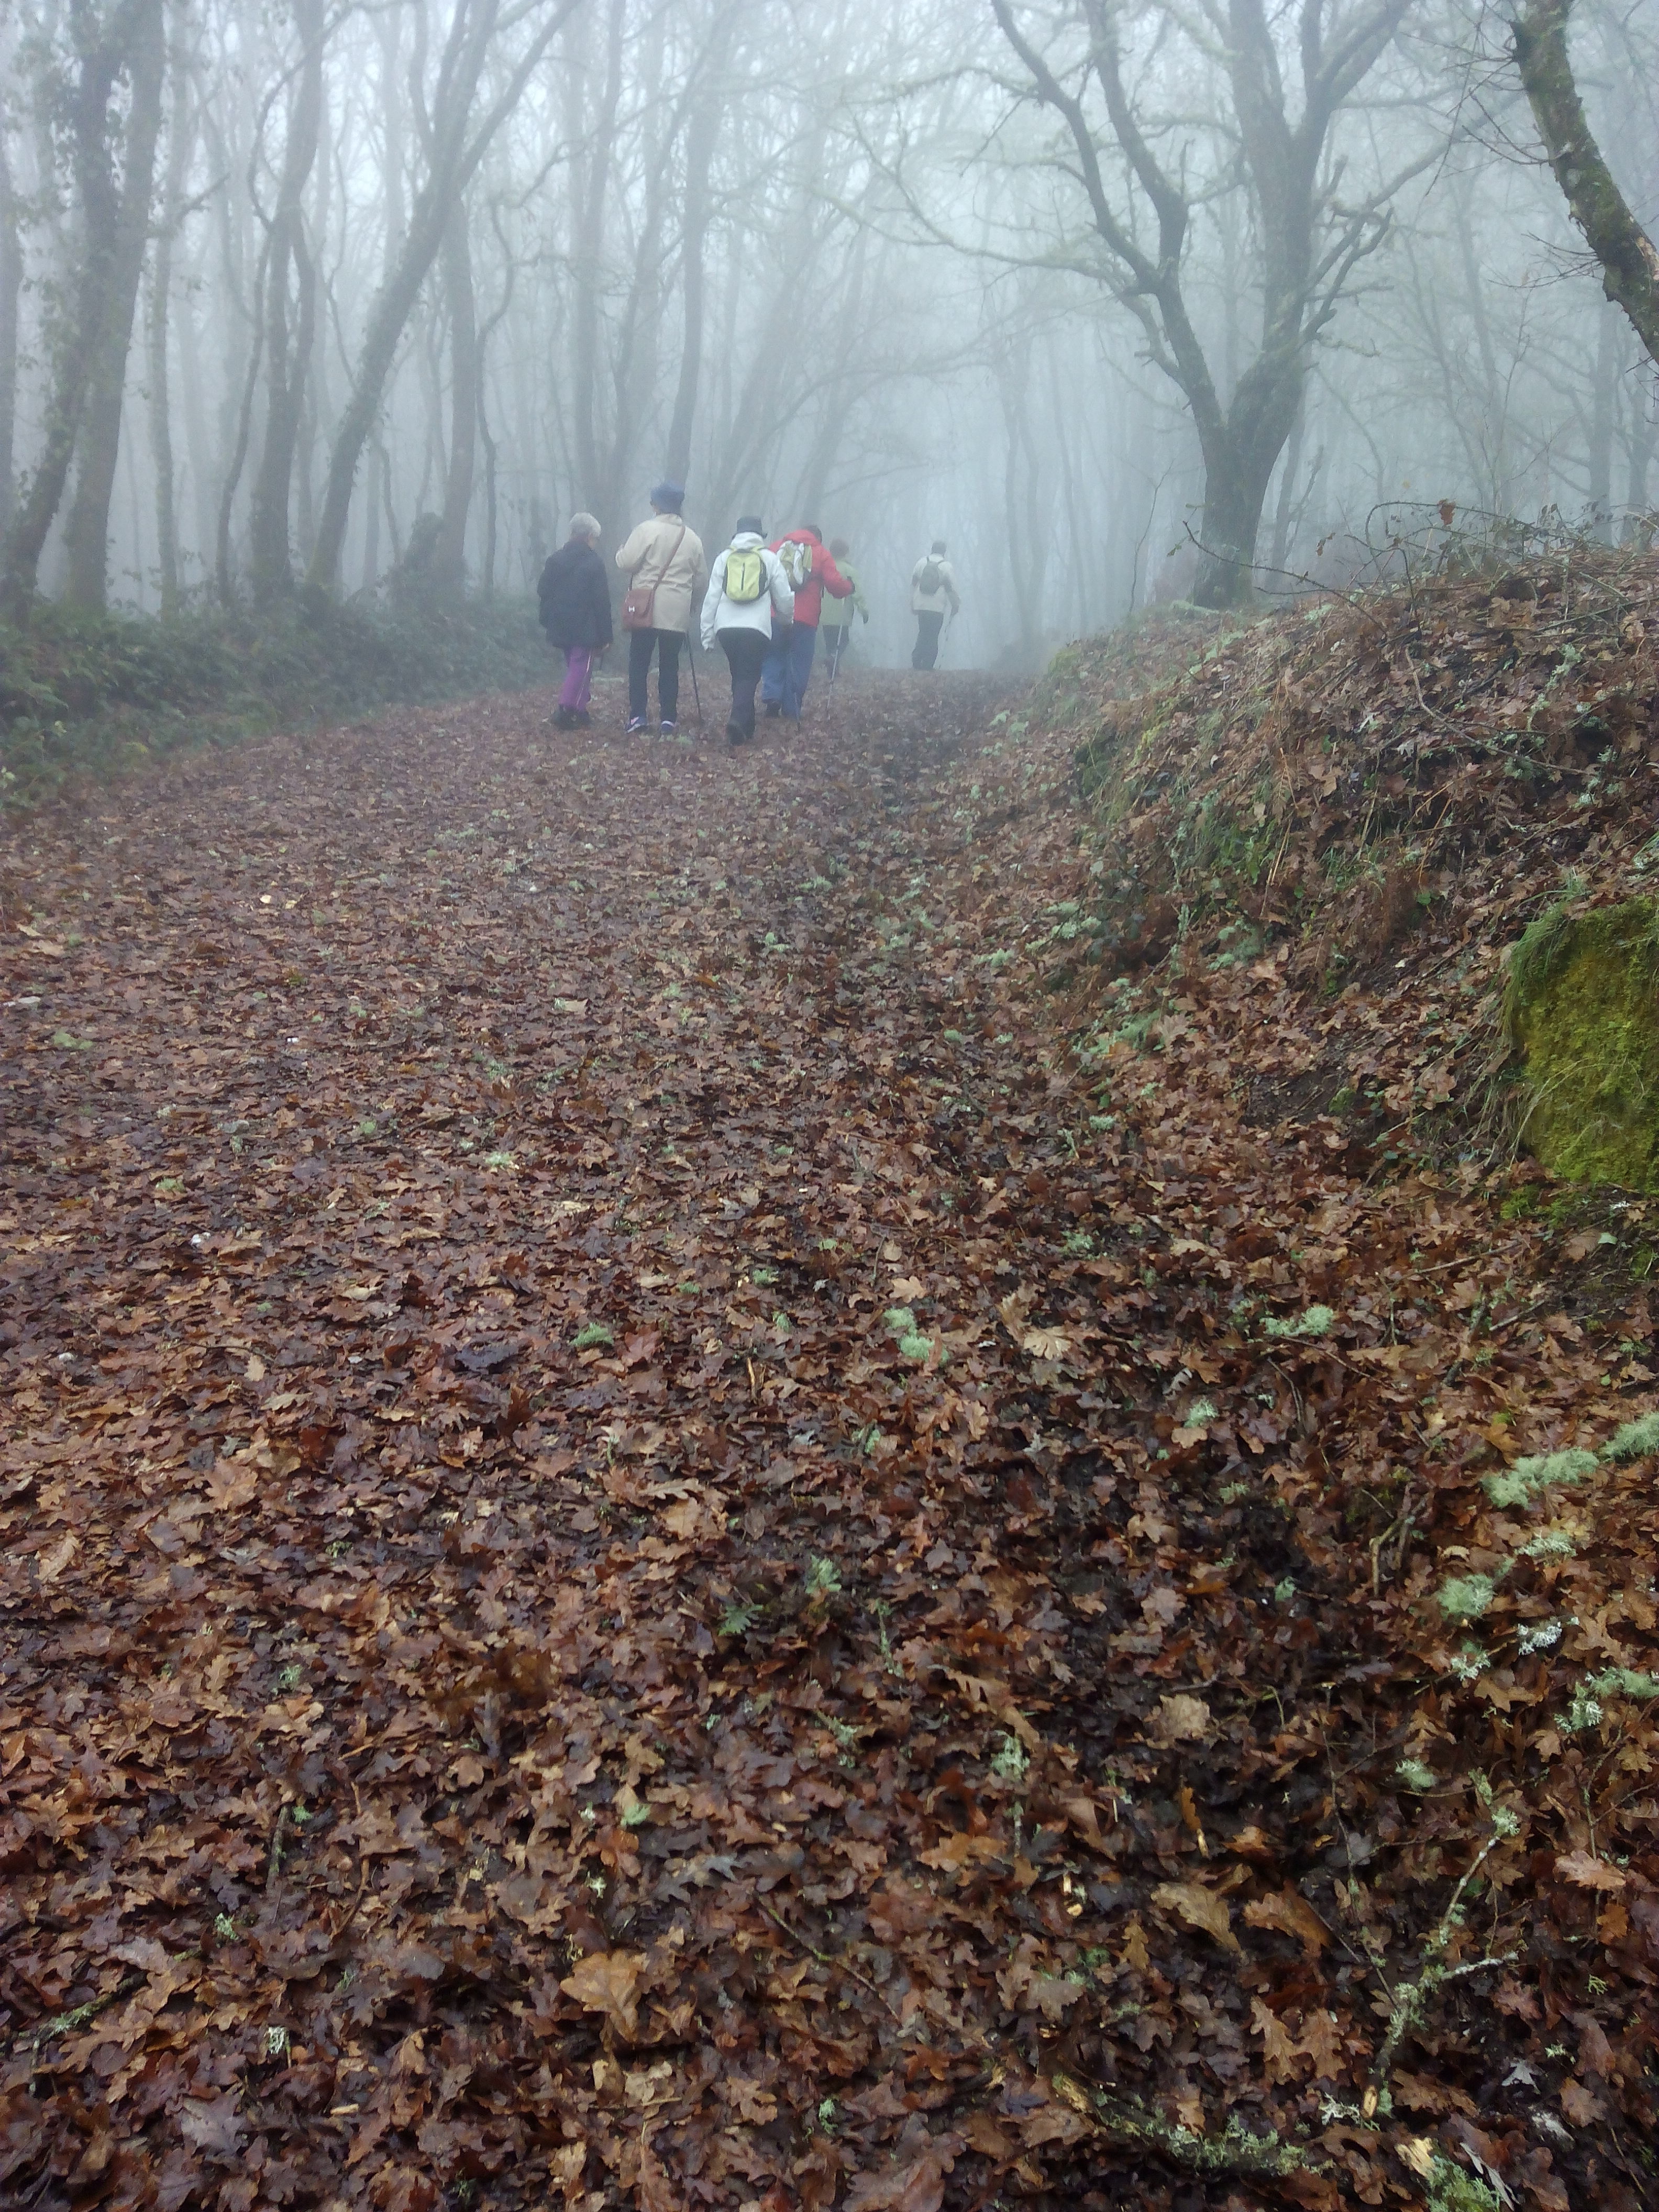
POLYGON ((1566 210, 1601 263, 1601 290, 1659 361, 1659 250, 1630 212, 1584 115, 1566 27, 1573 0, 1528 0, 1511 22, 1515 66, 1566 210))

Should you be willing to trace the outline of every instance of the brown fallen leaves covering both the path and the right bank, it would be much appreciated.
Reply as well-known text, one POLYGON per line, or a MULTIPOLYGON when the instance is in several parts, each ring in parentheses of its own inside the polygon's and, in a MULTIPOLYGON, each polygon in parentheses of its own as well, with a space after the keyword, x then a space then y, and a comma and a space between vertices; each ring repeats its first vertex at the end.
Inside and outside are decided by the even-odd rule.
POLYGON ((1396 615, 9 832, 2 2201, 1655 2201, 1652 1325, 1455 1124, 1652 779, 1396 615))

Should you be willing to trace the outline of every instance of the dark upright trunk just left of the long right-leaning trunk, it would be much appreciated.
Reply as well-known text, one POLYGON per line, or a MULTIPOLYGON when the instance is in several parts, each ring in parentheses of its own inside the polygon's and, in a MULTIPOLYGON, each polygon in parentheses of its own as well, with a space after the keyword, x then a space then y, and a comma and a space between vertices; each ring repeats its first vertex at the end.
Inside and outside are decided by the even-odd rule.
POLYGON ((261 604, 294 588, 290 546, 294 447, 316 338, 316 265, 305 239, 305 186, 323 122, 323 0, 294 0, 294 22, 303 55, 288 108, 283 170, 265 254, 265 442, 248 515, 248 573, 254 599, 261 604))

